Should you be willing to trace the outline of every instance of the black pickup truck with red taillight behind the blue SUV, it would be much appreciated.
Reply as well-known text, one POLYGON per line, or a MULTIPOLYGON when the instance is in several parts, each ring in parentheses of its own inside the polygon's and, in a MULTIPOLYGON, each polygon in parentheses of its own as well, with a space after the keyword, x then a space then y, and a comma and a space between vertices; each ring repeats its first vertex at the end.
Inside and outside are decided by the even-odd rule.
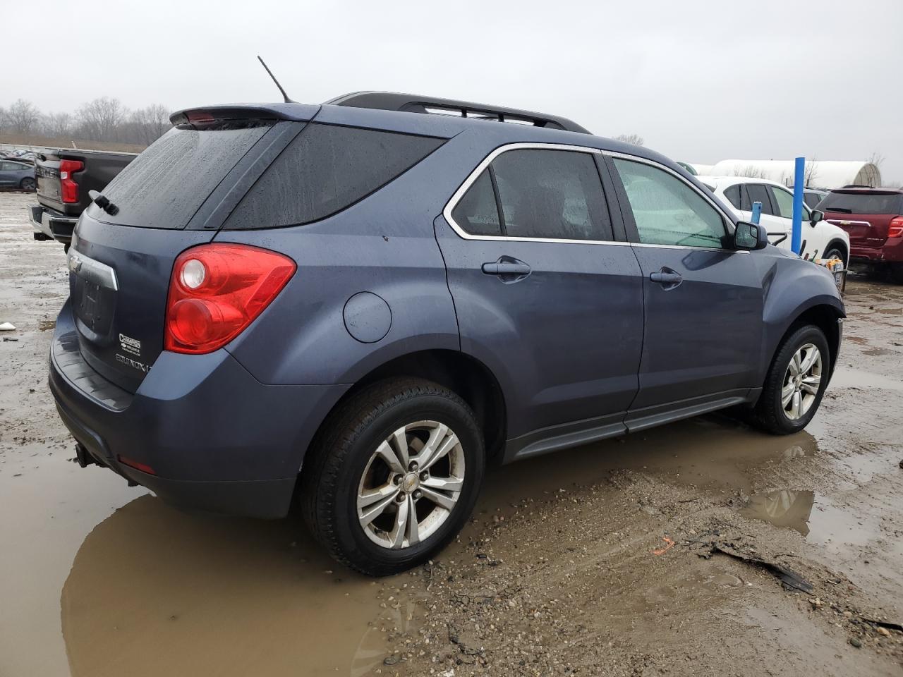
POLYGON ((135 153, 60 148, 38 153, 34 175, 38 204, 30 206, 34 239, 57 240, 69 249, 72 229, 91 203, 88 190, 104 190, 135 153))

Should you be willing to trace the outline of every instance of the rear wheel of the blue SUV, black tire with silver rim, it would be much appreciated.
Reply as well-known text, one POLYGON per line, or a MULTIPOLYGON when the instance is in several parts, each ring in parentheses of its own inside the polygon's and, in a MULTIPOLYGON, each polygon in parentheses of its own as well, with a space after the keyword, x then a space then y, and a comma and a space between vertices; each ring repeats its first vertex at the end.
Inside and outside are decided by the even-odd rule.
POLYGON ((368 576, 387 576, 429 560, 461 531, 484 469, 483 436, 461 397, 423 379, 392 378, 368 386, 330 415, 304 459, 300 504, 314 538, 335 560, 368 576), (399 431, 409 454, 404 475, 396 452, 399 431), (412 471, 416 459, 424 466, 431 462, 424 442, 433 440, 438 460, 412 471), (457 492, 436 488, 437 482, 459 481, 457 492), (377 516, 365 524, 368 511, 377 516), (411 511, 417 528, 410 520, 400 528, 411 511))

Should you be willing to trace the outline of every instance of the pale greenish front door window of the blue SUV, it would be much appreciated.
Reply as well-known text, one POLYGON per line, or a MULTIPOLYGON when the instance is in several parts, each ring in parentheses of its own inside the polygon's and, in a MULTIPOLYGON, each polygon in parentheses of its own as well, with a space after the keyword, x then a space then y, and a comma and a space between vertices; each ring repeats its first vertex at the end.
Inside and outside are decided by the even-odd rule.
POLYGON ((721 214, 684 181, 644 162, 614 159, 637 223, 649 245, 721 248, 727 235, 721 214))

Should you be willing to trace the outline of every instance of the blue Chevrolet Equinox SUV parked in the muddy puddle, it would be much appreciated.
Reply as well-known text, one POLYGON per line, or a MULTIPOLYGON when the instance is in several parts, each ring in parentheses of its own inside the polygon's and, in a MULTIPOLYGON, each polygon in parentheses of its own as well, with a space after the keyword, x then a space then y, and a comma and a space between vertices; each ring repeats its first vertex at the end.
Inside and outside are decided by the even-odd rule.
POLYGON ((823 268, 570 120, 365 92, 184 110, 79 219, 50 385, 82 465, 405 570, 490 462, 733 407, 802 429, 823 268))

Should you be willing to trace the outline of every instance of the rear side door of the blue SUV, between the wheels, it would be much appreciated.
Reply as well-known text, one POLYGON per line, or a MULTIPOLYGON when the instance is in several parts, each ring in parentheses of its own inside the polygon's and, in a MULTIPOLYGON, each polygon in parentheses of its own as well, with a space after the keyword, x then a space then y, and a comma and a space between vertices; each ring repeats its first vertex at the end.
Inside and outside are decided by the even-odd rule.
MULTIPOLYGON (((490 203, 496 200, 488 197, 486 174, 500 151, 452 198, 464 205, 476 192, 470 185, 479 184, 487 194, 483 206, 474 199, 467 214, 447 208, 434 223, 461 350, 497 376, 507 403, 509 440, 573 422, 584 423, 568 434, 605 423, 623 430, 624 413, 638 391, 642 348, 643 283, 637 258, 628 243, 612 241, 612 235, 605 241, 547 237, 554 233, 545 230, 550 219, 569 223, 580 210, 573 197, 523 204, 507 197, 517 181, 495 172, 491 185, 502 205, 498 215, 510 215, 511 232, 543 231, 546 237, 509 236, 507 227, 504 236, 488 235, 492 226, 487 222, 494 218, 490 203), (521 222, 521 215, 532 215, 539 225, 521 222), (515 268, 508 269, 512 274, 507 279, 494 274, 497 264, 518 263, 528 266, 529 273, 515 268)), ((588 155, 595 175, 592 190, 599 191, 604 206, 599 172, 588 155)), ((530 166, 547 168, 548 158, 530 166)), ((538 186, 526 193, 535 199, 548 190, 538 186)), ((567 223, 563 235, 573 236, 574 227, 567 223)))

